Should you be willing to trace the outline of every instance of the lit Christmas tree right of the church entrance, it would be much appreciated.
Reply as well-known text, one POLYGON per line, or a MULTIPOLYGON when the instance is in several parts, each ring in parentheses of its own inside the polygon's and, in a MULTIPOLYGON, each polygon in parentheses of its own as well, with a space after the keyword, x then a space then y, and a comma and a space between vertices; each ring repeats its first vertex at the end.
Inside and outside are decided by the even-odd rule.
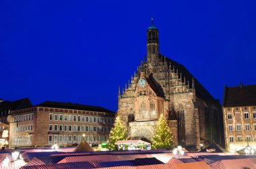
POLYGON ((172 133, 170 132, 170 128, 167 125, 164 115, 160 115, 154 130, 152 149, 172 148, 172 133))

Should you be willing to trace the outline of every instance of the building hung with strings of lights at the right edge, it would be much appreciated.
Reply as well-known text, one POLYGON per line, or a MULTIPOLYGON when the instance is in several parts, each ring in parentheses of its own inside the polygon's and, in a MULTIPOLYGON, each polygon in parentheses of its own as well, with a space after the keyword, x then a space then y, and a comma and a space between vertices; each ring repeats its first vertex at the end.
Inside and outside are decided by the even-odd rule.
POLYGON ((222 105, 226 149, 256 148, 256 85, 225 86, 222 105))

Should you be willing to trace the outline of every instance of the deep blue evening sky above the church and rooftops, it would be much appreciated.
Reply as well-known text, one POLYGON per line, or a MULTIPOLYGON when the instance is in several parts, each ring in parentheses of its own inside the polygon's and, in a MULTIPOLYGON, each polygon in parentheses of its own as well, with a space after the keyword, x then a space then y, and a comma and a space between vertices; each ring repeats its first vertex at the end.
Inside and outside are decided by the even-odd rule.
POLYGON ((256 84, 256 1, 0 1, 0 98, 117 110, 119 85, 146 55, 154 15, 160 52, 222 100, 256 84))

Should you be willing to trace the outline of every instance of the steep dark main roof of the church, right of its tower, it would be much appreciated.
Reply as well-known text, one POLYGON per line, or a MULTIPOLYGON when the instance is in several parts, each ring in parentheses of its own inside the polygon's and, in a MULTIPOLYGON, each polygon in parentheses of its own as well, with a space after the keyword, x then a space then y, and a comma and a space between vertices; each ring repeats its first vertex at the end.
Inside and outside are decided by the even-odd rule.
MULTIPOLYGON (((180 78, 185 78, 189 80, 189 86, 192 87, 192 78, 194 79, 194 84, 195 84, 195 95, 203 100, 206 101, 218 101, 212 97, 212 95, 203 87, 203 85, 183 66, 183 64, 179 64, 178 62, 175 62, 174 60, 171 60, 170 58, 167 58, 166 56, 163 56, 162 54, 159 54, 159 58, 162 58, 164 60, 164 57, 166 58, 166 62, 168 65, 174 66, 175 70, 179 70, 179 73, 181 73, 182 77, 180 78)), ((180 76, 180 75, 179 75, 180 76)))

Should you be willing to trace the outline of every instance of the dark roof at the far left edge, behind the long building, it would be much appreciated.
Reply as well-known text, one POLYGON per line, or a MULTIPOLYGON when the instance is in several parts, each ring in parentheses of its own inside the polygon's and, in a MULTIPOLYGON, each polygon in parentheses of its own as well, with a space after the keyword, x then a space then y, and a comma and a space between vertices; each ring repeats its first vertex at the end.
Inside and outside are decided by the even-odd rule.
POLYGON ((0 103, 0 111, 15 111, 32 107, 32 103, 28 98, 20 99, 17 101, 2 101, 0 103))

